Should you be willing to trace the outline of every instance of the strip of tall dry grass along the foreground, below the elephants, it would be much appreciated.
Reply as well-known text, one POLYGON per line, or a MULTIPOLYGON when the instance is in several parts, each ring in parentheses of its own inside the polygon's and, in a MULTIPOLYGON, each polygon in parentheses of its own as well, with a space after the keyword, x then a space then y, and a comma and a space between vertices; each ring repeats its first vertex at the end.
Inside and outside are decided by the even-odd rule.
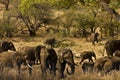
POLYGON ((58 77, 58 72, 56 76, 50 75, 49 71, 45 78, 41 75, 41 71, 38 66, 33 67, 32 75, 28 74, 28 70, 25 66, 22 67, 21 73, 17 72, 16 68, 5 68, 0 71, 0 80, 120 80, 120 72, 112 71, 111 73, 105 75, 99 75, 99 73, 83 73, 81 67, 76 67, 76 72, 73 75, 68 75, 65 72, 65 78, 61 79, 58 77))

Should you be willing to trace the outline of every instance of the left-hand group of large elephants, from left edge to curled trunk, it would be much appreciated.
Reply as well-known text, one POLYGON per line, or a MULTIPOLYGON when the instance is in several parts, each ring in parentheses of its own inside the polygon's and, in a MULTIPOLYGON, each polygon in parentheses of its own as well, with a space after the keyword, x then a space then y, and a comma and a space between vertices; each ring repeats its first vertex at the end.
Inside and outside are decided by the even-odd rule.
MULTIPOLYGON (((7 41, 5 41, 7 42, 7 41)), ((11 48, 4 50, 3 44, 1 43, 0 53, 0 69, 2 70, 5 66, 14 67, 17 65, 18 72, 21 71, 21 65, 28 66, 29 74, 32 74, 33 65, 39 65, 42 75, 45 78, 46 73, 49 70, 52 75, 56 75, 56 70, 59 72, 59 76, 64 78, 64 71, 66 64, 71 68, 71 71, 66 69, 68 74, 75 72, 75 63, 73 59, 73 53, 71 49, 61 48, 56 51, 53 48, 47 48, 44 45, 37 46, 25 46, 21 51, 16 51, 12 42, 11 48), (8 51, 12 50, 12 51, 8 51)), ((8 42, 9 43, 9 42, 8 42)), ((11 44, 10 44, 11 45, 11 44)), ((9 46, 6 44, 4 46, 9 46)))

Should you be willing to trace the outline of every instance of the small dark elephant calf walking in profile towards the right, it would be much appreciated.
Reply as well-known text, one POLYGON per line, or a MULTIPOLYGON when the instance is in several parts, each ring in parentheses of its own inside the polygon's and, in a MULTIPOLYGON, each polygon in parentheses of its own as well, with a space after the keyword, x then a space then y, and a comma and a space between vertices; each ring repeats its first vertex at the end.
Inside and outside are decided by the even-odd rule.
POLYGON ((80 64, 81 64, 85 59, 88 59, 89 62, 90 62, 90 61, 93 62, 92 57, 94 57, 94 58, 96 59, 96 55, 95 55, 95 53, 94 53, 93 51, 83 51, 80 56, 81 56, 80 64))

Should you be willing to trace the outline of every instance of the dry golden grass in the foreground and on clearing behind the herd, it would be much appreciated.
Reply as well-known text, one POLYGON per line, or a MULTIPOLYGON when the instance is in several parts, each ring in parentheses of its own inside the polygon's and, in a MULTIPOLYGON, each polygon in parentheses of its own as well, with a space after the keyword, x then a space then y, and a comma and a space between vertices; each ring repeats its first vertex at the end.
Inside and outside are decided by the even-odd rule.
MULTIPOLYGON (((97 58, 102 57, 103 54, 103 47, 106 40, 100 41, 96 46, 93 46, 91 42, 87 42, 84 39, 77 39, 77 38, 68 38, 69 40, 73 41, 75 44, 73 46, 68 46, 73 50, 74 54, 79 54, 84 50, 93 50, 97 54, 97 58)), ((12 38, 11 39, 17 50, 20 50, 23 46, 35 46, 38 44, 43 45, 43 41, 45 38, 12 38)), ((55 48, 56 50, 58 48, 55 48)), ((75 62, 79 62, 79 58, 74 58, 75 62)), ((58 75, 58 72, 57 72, 58 75)), ((86 73, 84 74, 81 70, 81 66, 76 66, 76 71, 74 75, 68 75, 65 72, 65 78, 62 80, 119 80, 120 72, 113 71, 107 75, 101 75, 99 73, 86 73)), ((47 74, 47 80, 61 80, 58 76, 52 76, 47 74)), ((0 73, 0 80, 44 80, 41 76, 41 71, 38 65, 33 66, 33 74, 31 76, 28 75, 28 70, 26 66, 22 66, 21 74, 19 75, 16 68, 6 68, 4 71, 0 73)))

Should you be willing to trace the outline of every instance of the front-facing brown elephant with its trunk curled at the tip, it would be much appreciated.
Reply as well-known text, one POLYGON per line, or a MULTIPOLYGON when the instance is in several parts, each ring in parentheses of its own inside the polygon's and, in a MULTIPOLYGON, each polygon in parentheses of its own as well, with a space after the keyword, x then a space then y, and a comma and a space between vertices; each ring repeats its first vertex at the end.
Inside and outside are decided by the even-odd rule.
POLYGON ((70 66, 71 71, 68 70, 67 68, 67 73, 69 75, 74 74, 75 72, 75 62, 73 59, 73 53, 71 49, 67 49, 67 48, 60 48, 57 51, 57 56, 58 56, 58 60, 57 60, 57 70, 60 74, 61 78, 64 78, 64 71, 65 71, 65 67, 66 64, 68 64, 68 66, 70 66))

